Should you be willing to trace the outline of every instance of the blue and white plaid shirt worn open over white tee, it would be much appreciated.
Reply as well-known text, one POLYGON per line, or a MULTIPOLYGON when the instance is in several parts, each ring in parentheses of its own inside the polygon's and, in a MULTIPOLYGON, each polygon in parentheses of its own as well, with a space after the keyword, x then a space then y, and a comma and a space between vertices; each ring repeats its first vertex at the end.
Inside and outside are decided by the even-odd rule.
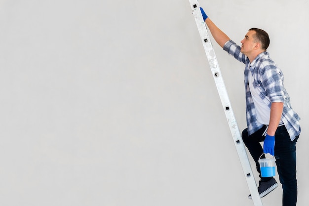
POLYGON ((254 76, 254 88, 257 89, 260 97, 269 107, 272 102, 284 103, 281 122, 285 125, 293 141, 301 132, 299 124, 300 118, 291 107, 289 94, 283 86, 283 74, 274 61, 270 59, 269 53, 265 51, 259 54, 254 61, 250 63, 249 58, 240 52, 240 46, 232 40, 226 42, 223 49, 246 65, 244 82, 246 90, 246 118, 249 135, 263 126, 256 118, 256 110, 248 83, 250 73, 250 75, 254 76))

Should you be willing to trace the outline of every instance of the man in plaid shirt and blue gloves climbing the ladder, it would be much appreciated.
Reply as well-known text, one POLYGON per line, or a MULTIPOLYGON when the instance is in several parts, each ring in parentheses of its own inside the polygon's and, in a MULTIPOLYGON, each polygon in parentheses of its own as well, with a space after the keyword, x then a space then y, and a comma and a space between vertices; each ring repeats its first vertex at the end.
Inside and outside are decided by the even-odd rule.
MULTIPOLYGON (((198 4, 195 6, 199 8, 198 4)), ((217 43, 235 59, 245 64, 248 128, 243 130, 242 140, 260 173, 259 195, 264 197, 277 187, 273 177, 261 176, 258 163, 263 153, 270 153, 276 159, 283 188, 283 206, 296 206, 296 142, 301 132, 300 118, 291 107, 289 95, 283 86, 282 71, 266 51, 270 43, 269 36, 261 29, 252 28, 241 41, 241 46, 238 46, 208 18, 202 8, 200 11, 217 43), (264 141, 263 148, 260 144, 262 141, 264 141)), ((250 188, 249 183, 248 185, 250 188)), ((252 197, 249 195, 249 198, 253 198, 255 203, 254 194, 252 197)))

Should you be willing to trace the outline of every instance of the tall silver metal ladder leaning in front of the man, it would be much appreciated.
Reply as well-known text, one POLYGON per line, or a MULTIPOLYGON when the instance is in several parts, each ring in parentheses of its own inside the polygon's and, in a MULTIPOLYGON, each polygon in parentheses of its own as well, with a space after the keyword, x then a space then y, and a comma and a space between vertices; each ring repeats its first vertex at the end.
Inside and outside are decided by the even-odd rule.
POLYGON ((199 32, 200 38, 202 40, 202 43, 203 43, 203 46, 206 52, 206 56, 209 62, 211 72, 213 74, 213 78, 217 86, 217 90, 218 90, 218 93, 219 93, 219 96, 222 102, 222 106, 224 108, 228 124, 230 126, 234 145, 237 150, 237 154, 238 154, 241 166, 242 166, 243 173, 247 180, 247 184, 250 190, 253 204, 254 206, 263 206, 261 198, 259 196, 258 189, 257 189, 257 184, 255 182, 255 178, 252 173, 251 165, 250 165, 250 162, 249 162, 246 150, 245 150, 245 146, 242 141, 240 131, 238 129, 238 125, 234 117, 234 113, 232 111, 229 95, 228 95, 226 86, 224 84, 224 81, 221 75, 219 64, 218 64, 214 49, 212 47, 212 43, 209 39, 206 24, 203 21, 203 17, 202 17, 200 8, 199 8, 198 1, 197 0, 189 0, 189 1, 191 3, 196 26, 198 28, 198 32, 199 32))

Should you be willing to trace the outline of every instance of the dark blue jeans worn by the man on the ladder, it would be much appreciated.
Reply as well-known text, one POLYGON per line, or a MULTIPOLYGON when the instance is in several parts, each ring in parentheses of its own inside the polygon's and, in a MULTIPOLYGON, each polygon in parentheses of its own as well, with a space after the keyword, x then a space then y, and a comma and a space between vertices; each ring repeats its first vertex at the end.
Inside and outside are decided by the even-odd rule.
MULTIPOLYGON (((254 159, 260 177, 261 170, 258 160, 263 154, 263 148, 260 142, 263 142, 265 139, 265 136, 263 136, 265 130, 266 126, 263 126, 249 136, 247 129, 244 129, 241 134, 244 144, 254 159)), ((297 202, 296 142, 298 137, 291 141, 290 135, 284 125, 277 128, 274 137, 274 156, 279 180, 283 189, 282 206, 296 206, 297 202)), ((262 179, 263 177, 261 181, 262 179)))

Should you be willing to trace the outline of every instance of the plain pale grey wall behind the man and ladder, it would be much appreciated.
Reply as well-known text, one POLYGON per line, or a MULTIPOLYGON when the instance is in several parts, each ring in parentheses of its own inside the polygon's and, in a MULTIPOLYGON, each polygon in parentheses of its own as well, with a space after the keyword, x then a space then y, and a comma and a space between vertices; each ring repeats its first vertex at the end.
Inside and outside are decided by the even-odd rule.
MULTIPOLYGON (((199 3, 269 33, 308 205, 309 0, 199 3)), ((213 45, 243 129, 244 66, 213 45)), ((189 0, 0 0, 0 140, 1 206, 253 206, 189 0)))

